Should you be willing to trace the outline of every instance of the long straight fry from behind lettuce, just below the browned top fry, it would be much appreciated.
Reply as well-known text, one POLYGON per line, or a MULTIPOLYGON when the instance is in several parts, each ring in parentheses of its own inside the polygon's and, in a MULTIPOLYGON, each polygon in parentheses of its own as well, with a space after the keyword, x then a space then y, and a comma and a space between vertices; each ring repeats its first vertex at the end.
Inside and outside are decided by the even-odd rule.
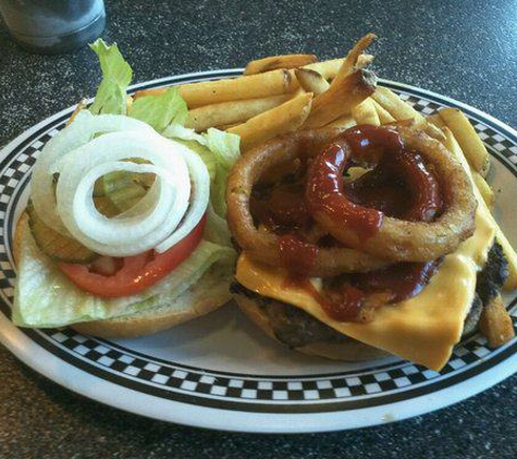
MULTIPOLYGON (((299 87, 293 71, 275 70, 258 75, 180 85, 180 95, 189 109, 231 100, 258 99, 293 92, 299 87)), ((168 88, 137 91, 135 98, 159 95, 168 88)))

